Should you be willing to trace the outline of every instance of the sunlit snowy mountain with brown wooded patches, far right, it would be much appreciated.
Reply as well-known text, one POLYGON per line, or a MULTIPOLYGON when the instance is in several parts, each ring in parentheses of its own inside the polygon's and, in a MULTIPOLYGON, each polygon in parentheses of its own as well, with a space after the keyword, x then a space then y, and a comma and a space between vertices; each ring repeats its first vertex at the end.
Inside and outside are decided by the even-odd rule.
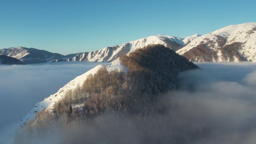
POLYGON ((177 53, 197 62, 256 62, 256 23, 230 25, 205 34, 177 53))

